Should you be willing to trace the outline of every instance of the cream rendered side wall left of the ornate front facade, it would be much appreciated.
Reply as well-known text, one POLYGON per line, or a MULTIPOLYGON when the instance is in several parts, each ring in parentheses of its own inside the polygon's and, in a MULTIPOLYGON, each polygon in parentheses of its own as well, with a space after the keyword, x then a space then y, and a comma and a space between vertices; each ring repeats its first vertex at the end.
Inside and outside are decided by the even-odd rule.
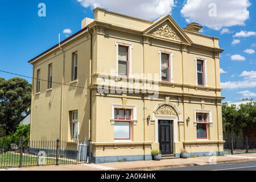
POLYGON ((62 51, 52 52, 34 63, 34 77, 40 69, 40 78, 48 80, 48 64, 53 65, 52 89, 47 90, 47 82, 40 81, 40 94, 36 94, 36 80, 33 82, 31 140, 71 140, 69 111, 79 111, 80 140, 89 139, 90 92, 85 89, 90 84, 90 36, 87 33, 62 47, 62 51), (77 82, 71 82, 72 53, 78 53, 77 82), (65 63, 65 72, 63 67, 65 63), (62 95, 62 85, 64 85, 62 95), (82 88, 76 88, 80 86, 82 88), (63 98, 63 100, 62 100, 63 98), (63 112, 61 104, 63 101, 63 112), (62 124, 61 124, 62 122, 62 124))

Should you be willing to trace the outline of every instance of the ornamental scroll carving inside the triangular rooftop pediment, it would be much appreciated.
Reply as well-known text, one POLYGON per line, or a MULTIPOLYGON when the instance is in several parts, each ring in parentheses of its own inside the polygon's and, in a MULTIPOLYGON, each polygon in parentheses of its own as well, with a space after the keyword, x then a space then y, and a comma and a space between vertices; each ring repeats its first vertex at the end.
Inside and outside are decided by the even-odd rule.
POLYGON ((158 30, 152 32, 152 35, 162 36, 164 38, 179 40, 181 41, 180 37, 176 34, 176 32, 168 26, 168 24, 158 28, 158 30))

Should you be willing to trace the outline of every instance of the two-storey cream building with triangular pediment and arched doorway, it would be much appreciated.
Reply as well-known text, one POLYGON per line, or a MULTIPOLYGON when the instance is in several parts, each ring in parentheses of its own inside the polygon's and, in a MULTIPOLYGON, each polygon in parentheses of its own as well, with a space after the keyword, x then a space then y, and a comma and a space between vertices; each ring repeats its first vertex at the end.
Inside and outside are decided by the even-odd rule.
POLYGON ((30 60, 31 140, 92 140, 95 163, 224 154, 218 38, 94 10, 82 29, 30 60))

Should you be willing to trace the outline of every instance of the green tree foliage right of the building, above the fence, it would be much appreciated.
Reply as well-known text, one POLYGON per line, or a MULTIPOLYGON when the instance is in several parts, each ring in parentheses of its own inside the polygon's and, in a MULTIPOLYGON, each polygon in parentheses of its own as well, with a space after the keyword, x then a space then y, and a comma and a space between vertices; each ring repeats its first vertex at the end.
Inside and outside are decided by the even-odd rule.
POLYGON ((222 126, 227 137, 230 137, 231 133, 237 137, 241 130, 249 133, 250 136, 247 137, 253 137, 256 131, 256 102, 241 104, 239 107, 222 103, 222 126))

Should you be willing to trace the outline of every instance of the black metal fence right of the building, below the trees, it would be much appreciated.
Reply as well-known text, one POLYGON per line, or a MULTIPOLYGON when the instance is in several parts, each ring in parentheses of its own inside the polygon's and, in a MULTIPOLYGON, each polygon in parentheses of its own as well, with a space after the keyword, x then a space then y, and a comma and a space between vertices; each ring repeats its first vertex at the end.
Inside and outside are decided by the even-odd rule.
POLYGON ((230 137, 224 140, 225 154, 256 153, 256 138, 230 137))

